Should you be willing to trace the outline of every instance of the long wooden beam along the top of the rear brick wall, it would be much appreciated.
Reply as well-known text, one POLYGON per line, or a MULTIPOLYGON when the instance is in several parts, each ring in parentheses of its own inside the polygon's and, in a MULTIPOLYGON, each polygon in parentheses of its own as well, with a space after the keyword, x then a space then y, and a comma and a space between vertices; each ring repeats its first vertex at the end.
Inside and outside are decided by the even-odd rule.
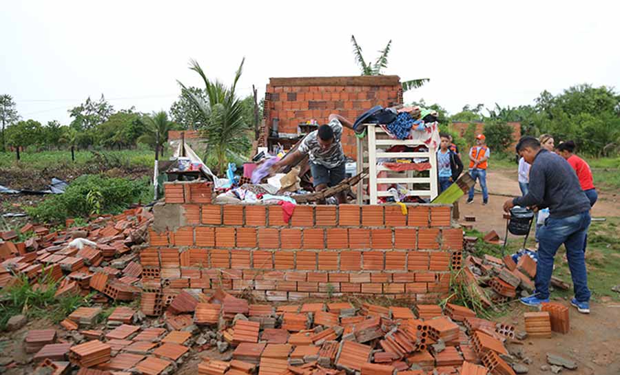
POLYGON ((395 86, 399 76, 336 76, 269 78, 271 87, 283 86, 395 86))

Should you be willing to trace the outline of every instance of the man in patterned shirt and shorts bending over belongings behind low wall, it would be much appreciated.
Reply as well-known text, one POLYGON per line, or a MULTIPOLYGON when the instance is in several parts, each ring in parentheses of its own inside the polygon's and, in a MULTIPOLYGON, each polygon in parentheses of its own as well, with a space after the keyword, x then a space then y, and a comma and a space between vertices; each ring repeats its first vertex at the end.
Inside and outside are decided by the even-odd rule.
MULTIPOLYGON (((345 177, 344 167, 347 162, 340 143, 342 126, 353 129, 353 123, 337 114, 329 115, 328 120, 329 124, 321 125, 317 130, 305 136, 298 149, 290 156, 287 155, 273 164, 271 171, 275 173, 289 165, 296 165, 304 156, 309 155, 315 191, 322 191, 340 184, 345 177)), ((338 194, 338 202, 347 202, 346 193, 338 194)))

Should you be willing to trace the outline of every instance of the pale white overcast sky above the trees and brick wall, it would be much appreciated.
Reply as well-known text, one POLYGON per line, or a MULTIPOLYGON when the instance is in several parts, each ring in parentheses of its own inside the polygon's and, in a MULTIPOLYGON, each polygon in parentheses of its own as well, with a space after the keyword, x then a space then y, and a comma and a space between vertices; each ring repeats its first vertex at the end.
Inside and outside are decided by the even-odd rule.
POLYGON ((3 1, 0 94, 23 118, 68 124, 103 93, 115 109, 169 109, 176 80, 207 76, 264 95, 269 77, 358 75, 351 34, 384 74, 431 78, 405 94, 451 114, 531 104, 577 83, 620 87, 615 1, 3 1))

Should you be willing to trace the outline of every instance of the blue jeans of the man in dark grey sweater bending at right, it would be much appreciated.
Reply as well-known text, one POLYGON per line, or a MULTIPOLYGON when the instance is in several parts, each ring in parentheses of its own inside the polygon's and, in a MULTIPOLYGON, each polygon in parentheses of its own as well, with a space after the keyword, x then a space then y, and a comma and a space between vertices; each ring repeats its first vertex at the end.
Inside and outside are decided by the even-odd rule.
POLYGON ((583 253, 583 242, 590 226, 590 213, 556 219, 548 217, 538 234, 538 264, 536 266, 536 292, 539 299, 549 298, 549 283, 553 271, 553 257, 557 249, 564 244, 568 268, 575 288, 575 298, 579 302, 590 301, 588 289, 588 273, 586 257, 583 253))

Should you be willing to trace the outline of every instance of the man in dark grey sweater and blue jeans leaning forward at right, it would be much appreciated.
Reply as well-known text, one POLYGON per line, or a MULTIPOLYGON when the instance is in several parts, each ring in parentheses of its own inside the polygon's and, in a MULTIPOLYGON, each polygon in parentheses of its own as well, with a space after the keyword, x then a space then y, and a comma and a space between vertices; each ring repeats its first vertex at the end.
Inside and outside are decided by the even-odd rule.
POLYGON ((583 193, 575 170, 555 153, 540 148, 533 137, 523 137, 517 144, 517 153, 530 167, 530 186, 523 197, 504 202, 504 211, 513 206, 549 208, 549 217, 540 228, 538 263, 536 266, 535 294, 521 298, 521 303, 539 306, 549 301, 549 284, 553 258, 561 244, 566 246, 566 257, 575 298, 570 301, 579 312, 590 312, 590 290, 583 241, 590 226, 590 201, 583 193))

